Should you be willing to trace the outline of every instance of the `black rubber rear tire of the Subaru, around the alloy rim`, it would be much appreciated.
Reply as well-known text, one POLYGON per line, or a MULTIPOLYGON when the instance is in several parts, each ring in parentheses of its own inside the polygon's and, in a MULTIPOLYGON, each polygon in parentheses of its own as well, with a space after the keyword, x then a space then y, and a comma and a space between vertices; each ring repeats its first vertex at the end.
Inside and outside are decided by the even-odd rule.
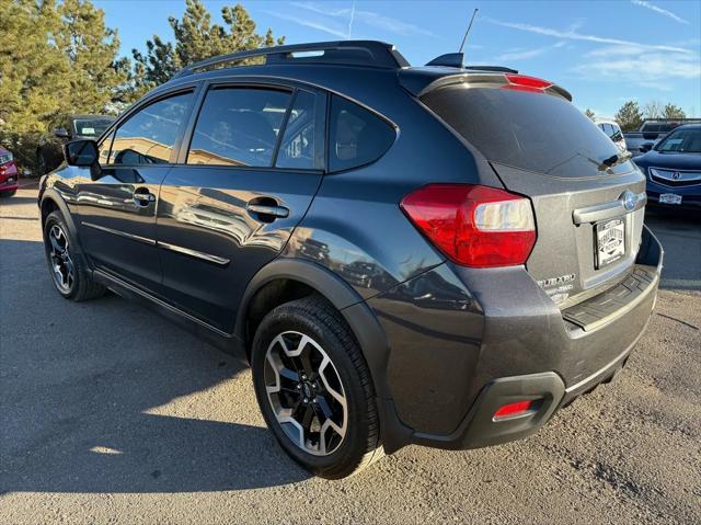
MULTIPOLYGON (((325 299, 307 297, 286 303, 271 311, 255 333, 251 361, 255 395, 265 422, 283 449, 307 470, 322 478, 345 478, 383 456, 370 373, 349 328, 325 299), (265 369, 266 366, 268 370, 272 369, 266 357, 268 349, 273 347, 272 343, 279 334, 291 332, 307 335, 323 347, 345 395, 345 435, 337 448, 327 455, 313 455, 295 443, 283 430, 268 397, 265 369)), ((280 381, 279 376, 277 380, 280 381)), ((317 401, 314 406, 320 410, 317 401)), ((318 422, 321 423, 321 418, 318 422)))

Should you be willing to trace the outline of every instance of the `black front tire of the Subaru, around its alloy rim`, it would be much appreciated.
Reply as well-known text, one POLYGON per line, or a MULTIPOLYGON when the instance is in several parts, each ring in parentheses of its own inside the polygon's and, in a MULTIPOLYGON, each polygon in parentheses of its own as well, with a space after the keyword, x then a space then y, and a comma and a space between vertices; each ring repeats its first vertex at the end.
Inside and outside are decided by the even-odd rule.
POLYGON ((51 212, 44 221, 44 251, 46 252, 46 260, 48 262, 51 281, 54 282, 58 293, 66 299, 78 303, 81 300, 94 299, 104 295, 105 287, 93 281, 92 272, 85 262, 85 258, 80 250, 76 249, 76 239, 71 236, 64 216, 58 210, 51 212), (68 255, 68 261, 62 259, 62 273, 55 272, 54 262, 61 259, 57 258, 56 254, 53 255, 51 236, 53 232, 57 231, 56 228, 60 230, 67 241, 65 251, 68 255), (67 279, 66 285, 62 286, 59 284, 58 274, 61 273, 61 275, 66 275, 65 271, 66 266, 68 266, 68 262, 70 262, 72 278, 67 279))

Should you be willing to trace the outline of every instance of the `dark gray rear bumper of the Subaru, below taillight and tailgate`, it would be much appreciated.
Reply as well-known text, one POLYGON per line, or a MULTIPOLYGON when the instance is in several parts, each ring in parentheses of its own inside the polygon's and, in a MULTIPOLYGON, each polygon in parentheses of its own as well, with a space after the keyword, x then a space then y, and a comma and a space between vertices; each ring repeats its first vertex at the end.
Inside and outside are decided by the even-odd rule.
POLYGON ((370 300, 391 340, 393 403, 412 429, 405 441, 475 448, 537 432, 559 408, 624 365, 650 320, 662 264, 662 246, 645 227, 633 272, 608 292, 610 297, 602 294, 589 305, 577 305, 577 322, 568 320, 567 310, 559 310, 522 269, 501 270, 490 279, 483 273, 452 269, 474 299, 472 305, 463 300, 462 311, 456 311, 456 300, 444 310, 449 303, 436 297, 432 309, 409 318, 411 309, 387 303, 389 296, 370 300), (427 321, 420 327, 421 319, 427 321), (403 352, 409 352, 407 363, 401 359, 403 352), (540 400, 537 410, 493 421, 498 408, 526 399, 540 400))

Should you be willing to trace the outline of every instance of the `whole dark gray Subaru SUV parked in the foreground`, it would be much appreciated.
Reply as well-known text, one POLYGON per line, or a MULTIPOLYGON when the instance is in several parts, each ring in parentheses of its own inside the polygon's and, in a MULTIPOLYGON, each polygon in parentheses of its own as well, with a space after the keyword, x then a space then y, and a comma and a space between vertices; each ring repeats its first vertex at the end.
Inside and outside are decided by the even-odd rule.
POLYGON ((562 88, 456 55, 212 58, 65 153, 39 192, 58 292, 145 300, 248 359, 319 476, 536 432, 655 304, 642 173, 562 88))

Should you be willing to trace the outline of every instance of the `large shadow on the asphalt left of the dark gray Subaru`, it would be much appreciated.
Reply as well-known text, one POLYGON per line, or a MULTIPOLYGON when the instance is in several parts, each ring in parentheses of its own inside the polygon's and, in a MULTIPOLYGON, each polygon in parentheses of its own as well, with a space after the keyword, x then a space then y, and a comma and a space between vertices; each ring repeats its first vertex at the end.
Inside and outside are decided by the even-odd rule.
POLYGON ((39 242, 0 240, 0 493, 219 491, 309 477, 250 424, 252 386, 230 380, 241 361, 114 295, 62 299, 39 242), (245 402, 230 399, 237 391, 245 402))

